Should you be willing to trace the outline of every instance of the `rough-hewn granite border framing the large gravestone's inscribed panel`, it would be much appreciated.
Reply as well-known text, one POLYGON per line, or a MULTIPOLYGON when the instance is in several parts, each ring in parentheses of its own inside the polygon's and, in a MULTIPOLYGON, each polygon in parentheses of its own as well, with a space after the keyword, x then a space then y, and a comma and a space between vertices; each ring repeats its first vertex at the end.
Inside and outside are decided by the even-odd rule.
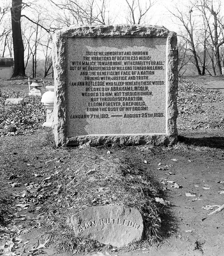
POLYGON ((53 40, 53 68, 55 83, 53 133, 56 146, 80 145, 90 142, 91 145, 102 144, 153 144, 171 145, 177 142, 177 104, 176 93, 178 86, 177 76, 177 39, 176 33, 170 32, 162 26, 116 25, 116 26, 71 26, 60 30, 53 40), (167 135, 127 135, 127 136, 76 136, 68 138, 66 127, 66 38, 68 37, 159 37, 168 38, 168 126, 167 135))

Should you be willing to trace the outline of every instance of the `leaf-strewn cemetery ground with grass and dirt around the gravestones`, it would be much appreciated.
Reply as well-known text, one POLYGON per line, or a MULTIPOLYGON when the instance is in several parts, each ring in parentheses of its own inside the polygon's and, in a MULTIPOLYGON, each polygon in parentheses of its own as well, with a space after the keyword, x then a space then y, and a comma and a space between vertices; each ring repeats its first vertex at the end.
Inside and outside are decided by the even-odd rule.
POLYGON ((0 87, 28 103, 0 104, 0 255, 223 255, 224 210, 208 215, 224 204, 223 92, 179 80, 174 146, 56 149, 27 81, 0 87), (144 241, 117 249, 74 236, 72 213, 119 204, 143 214, 144 241))

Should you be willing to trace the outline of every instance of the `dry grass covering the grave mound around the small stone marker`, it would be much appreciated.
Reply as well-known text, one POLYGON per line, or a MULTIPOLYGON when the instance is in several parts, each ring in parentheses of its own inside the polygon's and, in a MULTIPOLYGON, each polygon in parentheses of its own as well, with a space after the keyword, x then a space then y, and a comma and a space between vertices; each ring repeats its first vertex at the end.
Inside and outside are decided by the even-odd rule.
POLYGON ((59 251, 92 251, 102 247, 96 241, 75 237, 69 223, 71 214, 91 206, 126 205, 139 209, 145 218, 145 239, 132 245, 133 249, 173 235, 169 210, 154 201, 155 197, 164 196, 160 186, 132 158, 130 150, 120 150, 123 156, 108 155, 103 148, 66 151, 69 163, 55 177, 55 189, 60 186, 60 191, 52 198, 52 204, 44 205, 48 211, 46 225, 59 251))

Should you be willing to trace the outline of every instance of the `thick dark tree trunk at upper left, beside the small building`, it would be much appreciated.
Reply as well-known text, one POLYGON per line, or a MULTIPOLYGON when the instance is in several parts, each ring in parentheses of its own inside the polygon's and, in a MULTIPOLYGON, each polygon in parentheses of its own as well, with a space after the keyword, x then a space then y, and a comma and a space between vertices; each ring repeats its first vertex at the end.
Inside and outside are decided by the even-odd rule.
POLYGON ((22 0, 12 0, 11 17, 12 17, 12 40, 14 51, 14 72, 12 77, 26 76, 24 66, 24 46, 21 33, 21 9, 22 0))

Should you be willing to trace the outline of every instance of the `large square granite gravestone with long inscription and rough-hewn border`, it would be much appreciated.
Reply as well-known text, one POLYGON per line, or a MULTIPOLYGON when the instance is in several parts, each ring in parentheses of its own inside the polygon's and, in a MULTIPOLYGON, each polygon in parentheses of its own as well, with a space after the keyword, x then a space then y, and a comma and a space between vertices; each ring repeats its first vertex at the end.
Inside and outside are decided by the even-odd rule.
POLYGON ((57 146, 177 141, 176 33, 70 27, 56 33, 53 48, 57 146))

